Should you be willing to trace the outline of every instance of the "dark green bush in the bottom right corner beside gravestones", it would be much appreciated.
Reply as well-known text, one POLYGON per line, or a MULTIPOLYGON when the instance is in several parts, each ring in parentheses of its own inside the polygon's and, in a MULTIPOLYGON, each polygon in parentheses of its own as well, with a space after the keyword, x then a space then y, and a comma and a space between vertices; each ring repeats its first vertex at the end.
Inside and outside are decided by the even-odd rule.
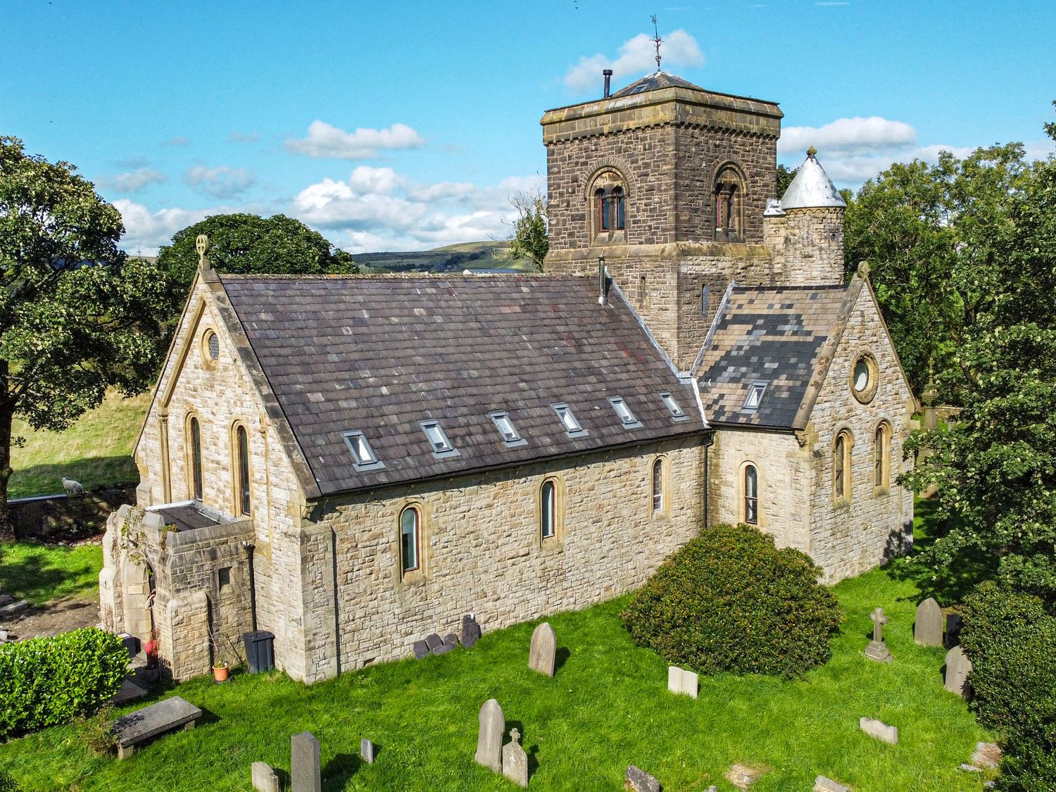
POLYGON ((963 617, 972 708, 1005 740, 999 784, 1056 789, 1056 616, 1034 595, 987 582, 965 599, 963 617))

